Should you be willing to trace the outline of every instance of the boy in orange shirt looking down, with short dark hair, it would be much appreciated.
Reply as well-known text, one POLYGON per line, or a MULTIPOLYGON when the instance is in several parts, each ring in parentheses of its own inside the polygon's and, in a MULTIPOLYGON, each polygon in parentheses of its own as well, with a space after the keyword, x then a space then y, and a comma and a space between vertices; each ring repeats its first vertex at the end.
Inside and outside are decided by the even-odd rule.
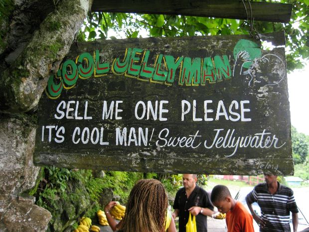
POLYGON ((226 186, 215 186, 210 200, 220 213, 226 214, 228 232, 254 232, 252 215, 243 204, 232 198, 226 186))

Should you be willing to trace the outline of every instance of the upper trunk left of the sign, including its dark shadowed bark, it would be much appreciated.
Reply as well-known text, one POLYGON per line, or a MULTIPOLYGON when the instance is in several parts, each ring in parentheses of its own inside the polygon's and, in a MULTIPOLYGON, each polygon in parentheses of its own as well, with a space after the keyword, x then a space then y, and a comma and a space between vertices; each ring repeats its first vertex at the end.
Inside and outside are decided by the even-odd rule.
POLYGON ((0 112, 27 112, 37 105, 92 4, 92 0, 54 2, 16 0, 10 6, 14 10, 1 26, 7 32, 1 36, 0 112), (42 5, 47 6, 44 11, 42 5))

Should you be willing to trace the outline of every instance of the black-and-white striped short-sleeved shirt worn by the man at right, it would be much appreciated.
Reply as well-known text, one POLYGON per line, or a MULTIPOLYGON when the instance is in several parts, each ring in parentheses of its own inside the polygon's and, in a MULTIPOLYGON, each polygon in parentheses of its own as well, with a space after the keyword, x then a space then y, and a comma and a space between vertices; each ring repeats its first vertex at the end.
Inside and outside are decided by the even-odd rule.
POLYGON ((298 208, 289 187, 279 184, 275 194, 268 191, 266 183, 257 185, 246 197, 248 203, 257 202, 262 219, 266 223, 260 232, 290 232, 290 212, 298 213, 298 208))

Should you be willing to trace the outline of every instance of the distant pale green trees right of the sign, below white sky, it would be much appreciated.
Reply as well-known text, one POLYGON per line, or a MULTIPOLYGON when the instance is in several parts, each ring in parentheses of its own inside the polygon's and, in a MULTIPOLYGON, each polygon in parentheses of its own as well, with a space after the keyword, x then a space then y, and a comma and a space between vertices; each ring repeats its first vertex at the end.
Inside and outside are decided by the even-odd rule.
POLYGON ((291 130, 292 150, 295 164, 302 164, 309 155, 309 142, 305 134, 299 133, 294 126, 291 130))

